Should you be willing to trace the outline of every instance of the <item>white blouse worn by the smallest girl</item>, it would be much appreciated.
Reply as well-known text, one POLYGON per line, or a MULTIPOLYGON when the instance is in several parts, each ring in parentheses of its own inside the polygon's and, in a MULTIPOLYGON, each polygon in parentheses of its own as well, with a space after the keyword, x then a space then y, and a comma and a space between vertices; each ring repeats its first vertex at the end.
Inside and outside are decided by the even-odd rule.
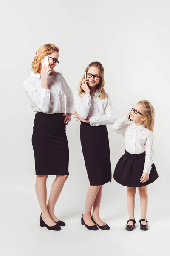
POLYGON ((143 172, 150 173, 153 164, 153 133, 143 125, 136 126, 127 116, 117 121, 113 131, 122 134, 125 140, 125 149, 130 154, 146 153, 143 172))

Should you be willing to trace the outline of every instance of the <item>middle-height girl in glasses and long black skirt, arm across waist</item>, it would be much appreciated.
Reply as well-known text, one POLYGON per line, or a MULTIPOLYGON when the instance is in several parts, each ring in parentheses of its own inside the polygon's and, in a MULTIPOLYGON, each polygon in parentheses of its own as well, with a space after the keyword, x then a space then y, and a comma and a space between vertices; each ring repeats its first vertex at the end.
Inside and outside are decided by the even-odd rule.
POLYGON ((79 91, 74 92, 77 109, 74 115, 81 121, 80 140, 90 181, 81 224, 89 230, 98 230, 98 227, 109 230, 109 226, 99 217, 99 209, 102 185, 111 182, 111 159, 106 125, 113 124, 115 117, 111 100, 104 90, 102 64, 92 62, 86 68, 85 74, 80 82, 79 91))

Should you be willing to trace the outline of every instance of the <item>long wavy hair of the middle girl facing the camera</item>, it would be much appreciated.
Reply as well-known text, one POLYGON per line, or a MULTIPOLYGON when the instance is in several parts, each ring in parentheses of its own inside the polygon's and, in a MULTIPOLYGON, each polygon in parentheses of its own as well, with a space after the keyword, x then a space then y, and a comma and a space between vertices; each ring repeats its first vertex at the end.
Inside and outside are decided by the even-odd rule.
MULTIPOLYGON (((94 62, 91 62, 88 67, 86 67, 86 70, 85 72, 88 72, 89 68, 90 67, 97 67, 99 69, 99 72, 100 72, 100 80, 99 80, 99 84, 97 84, 97 89, 99 89, 100 91, 100 95, 99 95, 99 98, 100 99, 105 99, 105 90, 104 90, 104 85, 105 85, 105 80, 104 80, 104 68, 102 66, 102 64, 98 61, 94 61, 94 62)), ((83 79, 85 79, 85 73, 83 75, 83 78, 82 78, 82 81, 83 79)), ((80 82, 79 84, 79 96, 81 97, 81 94, 82 93, 85 93, 85 91, 82 89, 82 81, 80 82)))

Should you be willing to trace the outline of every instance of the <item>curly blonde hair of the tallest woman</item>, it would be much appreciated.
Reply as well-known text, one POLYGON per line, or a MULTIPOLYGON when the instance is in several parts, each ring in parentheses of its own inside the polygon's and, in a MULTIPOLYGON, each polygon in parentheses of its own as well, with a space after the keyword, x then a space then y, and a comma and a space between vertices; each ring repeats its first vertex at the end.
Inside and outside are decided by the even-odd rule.
POLYGON ((44 44, 40 46, 36 51, 36 56, 32 62, 31 70, 34 70, 34 73, 40 72, 41 62, 45 55, 50 55, 53 52, 59 52, 59 48, 55 44, 44 44))

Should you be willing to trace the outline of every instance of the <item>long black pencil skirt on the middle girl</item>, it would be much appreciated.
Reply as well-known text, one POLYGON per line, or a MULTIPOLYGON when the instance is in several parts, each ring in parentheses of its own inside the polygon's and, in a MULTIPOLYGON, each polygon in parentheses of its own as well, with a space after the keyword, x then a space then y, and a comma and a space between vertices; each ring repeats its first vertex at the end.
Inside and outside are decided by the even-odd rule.
POLYGON ((91 186, 111 182, 111 158, 106 125, 81 122, 80 140, 91 186))

